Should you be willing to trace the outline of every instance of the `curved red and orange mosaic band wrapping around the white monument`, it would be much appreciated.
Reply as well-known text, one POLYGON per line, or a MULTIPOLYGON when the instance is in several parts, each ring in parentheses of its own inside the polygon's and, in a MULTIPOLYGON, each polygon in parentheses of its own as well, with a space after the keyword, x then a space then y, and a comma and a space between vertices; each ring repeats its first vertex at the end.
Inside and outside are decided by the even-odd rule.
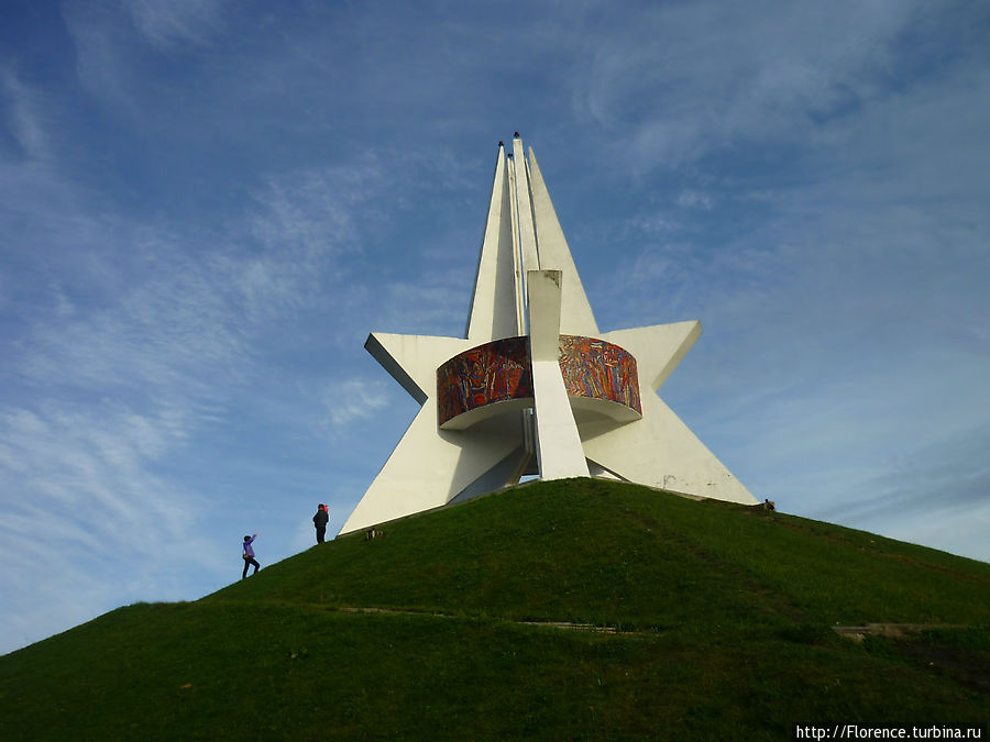
MULTIPOLYGON (((560 336, 560 369, 571 397, 602 399, 642 413, 636 358, 594 337, 560 336)), ((532 398, 528 339, 505 337, 459 353, 437 369, 439 424, 479 407, 532 398)))

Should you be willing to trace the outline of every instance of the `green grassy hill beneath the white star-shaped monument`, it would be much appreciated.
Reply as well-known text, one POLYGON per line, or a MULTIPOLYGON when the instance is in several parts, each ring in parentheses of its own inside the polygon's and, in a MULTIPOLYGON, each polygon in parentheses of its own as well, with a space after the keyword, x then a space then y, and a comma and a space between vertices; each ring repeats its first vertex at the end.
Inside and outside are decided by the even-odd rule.
POLYGON ((3 740, 790 739, 986 723, 988 701, 990 565, 584 479, 0 657, 3 740), (928 628, 833 630, 867 623, 928 628))

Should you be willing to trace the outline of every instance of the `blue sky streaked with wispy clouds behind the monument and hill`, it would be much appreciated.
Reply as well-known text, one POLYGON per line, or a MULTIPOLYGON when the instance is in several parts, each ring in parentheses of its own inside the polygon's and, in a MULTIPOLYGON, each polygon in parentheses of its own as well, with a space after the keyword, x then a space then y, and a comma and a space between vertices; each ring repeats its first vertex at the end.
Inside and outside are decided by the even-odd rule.
POLYGON ((515 131, 757 498, 990 560, 990 5, 413 4, 4 3, 0 652, 340 528, 515 131))

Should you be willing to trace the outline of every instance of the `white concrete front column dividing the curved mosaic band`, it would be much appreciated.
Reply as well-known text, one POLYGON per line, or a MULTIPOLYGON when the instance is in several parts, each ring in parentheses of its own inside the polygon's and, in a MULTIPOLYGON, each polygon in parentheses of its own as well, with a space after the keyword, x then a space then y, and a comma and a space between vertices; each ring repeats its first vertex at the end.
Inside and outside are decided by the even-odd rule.
POLYGON ((587 462, 560 373, 560 270, 529 270, 529 361, 542 479, 586 477, 587 462))

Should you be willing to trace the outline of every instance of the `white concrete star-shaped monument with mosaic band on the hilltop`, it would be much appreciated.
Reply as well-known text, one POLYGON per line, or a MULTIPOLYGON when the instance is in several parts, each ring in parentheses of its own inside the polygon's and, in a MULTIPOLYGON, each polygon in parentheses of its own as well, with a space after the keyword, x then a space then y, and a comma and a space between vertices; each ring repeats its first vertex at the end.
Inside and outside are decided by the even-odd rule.
POLYGON ((531 474, 756 505, 657 395, 701 323, 601 332, 532 147, 516 134, 512 149, 498 143, 465 336, 367 337, 421 408, 340 533, 531 474))

